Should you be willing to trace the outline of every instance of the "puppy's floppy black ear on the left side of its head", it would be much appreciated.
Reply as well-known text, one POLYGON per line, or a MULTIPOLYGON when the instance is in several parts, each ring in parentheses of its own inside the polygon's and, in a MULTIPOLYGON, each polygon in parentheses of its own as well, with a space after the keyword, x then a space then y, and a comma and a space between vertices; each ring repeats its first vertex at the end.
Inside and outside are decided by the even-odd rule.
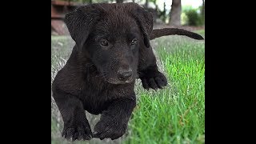
POLYGON ((99 14, 100 12, 95 5, 81 6, 66 14, 64 22, 66 22, 70 31, 71 38, 74 39, 79 48, 82 48, 86 42, 90 30, 99 18, 99 14))

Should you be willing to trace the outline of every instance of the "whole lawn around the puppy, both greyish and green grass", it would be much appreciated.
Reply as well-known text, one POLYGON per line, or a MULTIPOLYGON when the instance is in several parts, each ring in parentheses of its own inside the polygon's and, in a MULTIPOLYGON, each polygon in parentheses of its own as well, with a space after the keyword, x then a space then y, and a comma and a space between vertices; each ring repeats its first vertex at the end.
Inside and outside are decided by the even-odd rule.
MULTIPOLYGON (((204 36, 204 30, 196 31, 204 36)), ((143 90, 136 82, 138 105, 127 134, 111 141, 93 138, 73 143, 204 143, 205 142, 205 42, 184 36, 151 41, 160 71, 168 86, 143 90)), ((52 37, 52 80, 69 58, 74 42, 70 37, 52 37)), ((87 114, 92 127, 99 116, 87 114)), ((62 118, 52 101, 52 143, 69 143, 60 137, 62 118)))

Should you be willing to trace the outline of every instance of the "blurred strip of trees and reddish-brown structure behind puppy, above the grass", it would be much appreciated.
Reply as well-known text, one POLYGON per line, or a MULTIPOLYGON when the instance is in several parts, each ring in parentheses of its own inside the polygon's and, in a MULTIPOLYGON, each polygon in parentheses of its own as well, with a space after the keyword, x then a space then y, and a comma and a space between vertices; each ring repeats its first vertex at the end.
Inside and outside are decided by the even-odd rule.
POLYGON ((186 30, 204 28, 205 0, 52 0, 51 34, 68 34, 63 22, 65 14, 90 3, 136 2, 154 15, 154 27, 175 26, 186 30))

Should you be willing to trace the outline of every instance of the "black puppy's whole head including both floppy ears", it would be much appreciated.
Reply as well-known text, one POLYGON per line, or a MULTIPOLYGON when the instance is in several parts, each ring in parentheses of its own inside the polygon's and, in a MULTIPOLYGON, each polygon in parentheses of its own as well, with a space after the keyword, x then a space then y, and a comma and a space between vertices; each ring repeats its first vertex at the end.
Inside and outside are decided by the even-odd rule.
POLYGON ((138 49, 150 47, 150 12, 135 3, 92 4, 66 14, 78 50, 113 84, 134 82, 138 49))

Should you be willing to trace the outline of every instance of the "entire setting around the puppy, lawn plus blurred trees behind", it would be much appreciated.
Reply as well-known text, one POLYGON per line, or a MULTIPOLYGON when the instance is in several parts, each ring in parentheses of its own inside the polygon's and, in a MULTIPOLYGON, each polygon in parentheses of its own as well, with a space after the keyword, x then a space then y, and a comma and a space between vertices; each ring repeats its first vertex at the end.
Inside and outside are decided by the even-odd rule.
MULTIPOLYGON (((74 41, 63 22, 65 14, 78 6, 98 2, 136 2, 154 15, 154 28, 178 27, 205 38, 204 0, 52 0, 51 82, 66 64, 74 41)), ((168 86, 144 90, 136 80, 138 105, 122 138, 68 142, 62 138, 63 121, 51 97, 51 143, 205 143, 205 42, 185 36, 166 36, 150 41, 159 70, 168 86)), ((94 130, 100 115, 86 113, 94 130)))

